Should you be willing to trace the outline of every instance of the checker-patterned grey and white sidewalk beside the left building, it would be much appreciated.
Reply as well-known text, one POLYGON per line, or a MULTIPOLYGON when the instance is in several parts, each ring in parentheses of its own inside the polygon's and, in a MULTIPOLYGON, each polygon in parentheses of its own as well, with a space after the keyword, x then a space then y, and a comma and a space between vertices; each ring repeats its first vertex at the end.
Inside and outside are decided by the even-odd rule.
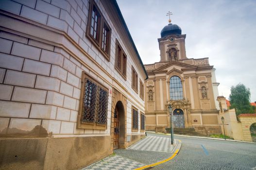
POLYGON ((115 150, 116 155, 102 159, 83 170, 134 170, 169 158, 178 143, 178 140, 174 140, 174 145, 171 145, 170 136, 148 134, 126 150, 115 150))

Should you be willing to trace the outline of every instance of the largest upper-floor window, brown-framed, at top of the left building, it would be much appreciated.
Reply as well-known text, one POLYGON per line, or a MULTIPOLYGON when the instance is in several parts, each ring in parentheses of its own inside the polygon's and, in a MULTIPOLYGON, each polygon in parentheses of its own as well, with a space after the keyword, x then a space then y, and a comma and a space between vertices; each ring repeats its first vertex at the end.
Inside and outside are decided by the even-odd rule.
POLYGON ((86 37, 89 38, 103 56, 110 61, 111 30, 106 20, 102 17, 102 14, 94 0, 90 1, 88 18, 86 37))

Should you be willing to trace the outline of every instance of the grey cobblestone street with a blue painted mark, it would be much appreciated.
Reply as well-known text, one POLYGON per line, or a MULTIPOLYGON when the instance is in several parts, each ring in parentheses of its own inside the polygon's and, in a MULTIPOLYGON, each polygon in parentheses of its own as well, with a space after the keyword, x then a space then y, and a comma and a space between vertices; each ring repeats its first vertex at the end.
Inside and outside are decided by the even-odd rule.
POLYGON ((255 170, 256 144, 175 136, 180 153, 152 170, 255 170))

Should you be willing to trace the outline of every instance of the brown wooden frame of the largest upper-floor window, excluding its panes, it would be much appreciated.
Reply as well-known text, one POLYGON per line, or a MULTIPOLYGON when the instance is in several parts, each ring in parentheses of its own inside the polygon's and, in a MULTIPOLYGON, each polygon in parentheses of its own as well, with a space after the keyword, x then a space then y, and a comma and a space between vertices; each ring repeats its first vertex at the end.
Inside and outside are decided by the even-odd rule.
POLYGON ((110 26, 108 25, 106 19, 103 17, 101 11, 99 10, 100 8, 97 6, 94 0, 89 1, 89 12, 88 12, 88 21, 87 21, 87 26, 86 26, 86 32, 85 36, 92 42, 92 44, 102 53, 102 55, 110 61, 110 46, 111 46, 111 29, 110 26), (96 9, 97 13, 99 14, 99 25, 97 27, 97 33, 98 37, 94 38, 93 35, 90 34, 91 31, 91 21, 92 21, 92 11, 93 9, 96 9), (102 39, 103 39, 103 28, 106 26, 108 29, 108 34, 107 34, 107 40, 106 40, 106 50, 102 49, 102 39))

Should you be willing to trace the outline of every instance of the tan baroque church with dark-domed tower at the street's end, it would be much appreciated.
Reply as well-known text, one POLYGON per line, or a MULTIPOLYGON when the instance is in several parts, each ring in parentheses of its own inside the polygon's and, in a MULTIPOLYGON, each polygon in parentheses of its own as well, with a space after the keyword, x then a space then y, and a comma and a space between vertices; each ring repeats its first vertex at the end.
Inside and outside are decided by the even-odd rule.
POLYGON ((144 65, 146 130, 165 131, 170 127, 171 104, 175 128, 195 128, 202 133, 221 133, 218 125, 218 85, 215 68, 208 58, 187 58, 181 28, 169 24, 158 38, 160 61, 144 65))

